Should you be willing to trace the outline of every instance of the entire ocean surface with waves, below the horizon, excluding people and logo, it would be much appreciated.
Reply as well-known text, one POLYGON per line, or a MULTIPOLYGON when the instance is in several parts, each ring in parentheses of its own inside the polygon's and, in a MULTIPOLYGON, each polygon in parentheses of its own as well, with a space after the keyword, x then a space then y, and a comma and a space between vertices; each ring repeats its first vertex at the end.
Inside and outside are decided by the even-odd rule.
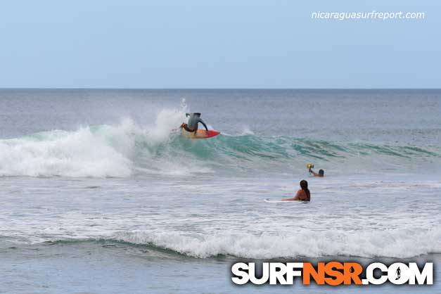
POLYGON ((441 293, 440 176, 441 90, 1 89, 0 293, 441 293), (236 286, 243 260, 435 281, 236 286))

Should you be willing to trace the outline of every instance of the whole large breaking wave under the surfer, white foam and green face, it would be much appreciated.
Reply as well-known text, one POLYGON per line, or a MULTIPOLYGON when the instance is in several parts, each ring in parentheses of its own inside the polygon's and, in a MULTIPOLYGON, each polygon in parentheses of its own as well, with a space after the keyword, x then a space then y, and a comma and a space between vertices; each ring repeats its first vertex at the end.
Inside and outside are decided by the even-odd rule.
MULTIPOLYGON (((0 140, 0 175, 29 177, 130 177, 138 173, 184 174, 222 169, 276 167, 304 170, 305 162, 364 169, 399 169, 440 162, 439 146, 392 146, 334 142, 293 136, 260 136, 249 129, 238 136, 207 140, 179 136, 181 110, 162 110, 153 126, 130 119, 116 125, 52 130, 0 140), (240 162, 240 164, 238 164, 240 162)), ((222 130, 221 130, 222 131, 222 130)))

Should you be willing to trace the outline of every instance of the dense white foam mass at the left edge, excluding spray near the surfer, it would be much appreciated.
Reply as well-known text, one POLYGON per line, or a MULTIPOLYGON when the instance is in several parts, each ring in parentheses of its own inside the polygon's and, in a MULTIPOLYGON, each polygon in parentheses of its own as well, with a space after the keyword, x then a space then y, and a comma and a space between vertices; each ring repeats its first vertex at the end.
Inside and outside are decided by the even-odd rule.
POLYGON ((127 177, 132 143, 120 127, 106 126, 95 134, 91 127, 75 132, 54 130, 0 141, 2 176, 127 177), (112 133, 118 133, 117 138, 112 133))

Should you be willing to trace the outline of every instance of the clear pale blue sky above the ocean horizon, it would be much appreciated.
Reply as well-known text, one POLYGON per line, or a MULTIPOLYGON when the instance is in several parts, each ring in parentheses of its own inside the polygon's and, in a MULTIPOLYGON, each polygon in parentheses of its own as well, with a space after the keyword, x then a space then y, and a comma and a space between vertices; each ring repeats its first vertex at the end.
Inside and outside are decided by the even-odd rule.
POLYGON ((0 87, 441 88, 439 3, 2 1, 0 87), (426 18, 314 20, 317 11, 426 18))

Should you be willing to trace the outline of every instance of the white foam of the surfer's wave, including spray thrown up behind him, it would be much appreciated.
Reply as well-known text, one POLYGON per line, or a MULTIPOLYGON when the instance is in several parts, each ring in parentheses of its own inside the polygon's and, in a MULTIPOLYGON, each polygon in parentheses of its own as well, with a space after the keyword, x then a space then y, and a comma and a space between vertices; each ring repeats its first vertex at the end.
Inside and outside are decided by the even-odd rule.
POLYGON ((126 118, 116 125, 0 140, 0 176, 129 177, 136 144, 143 143, 142 152, 153 156, 184 120, 181 110, 162 110, 148 127, 126 118))

